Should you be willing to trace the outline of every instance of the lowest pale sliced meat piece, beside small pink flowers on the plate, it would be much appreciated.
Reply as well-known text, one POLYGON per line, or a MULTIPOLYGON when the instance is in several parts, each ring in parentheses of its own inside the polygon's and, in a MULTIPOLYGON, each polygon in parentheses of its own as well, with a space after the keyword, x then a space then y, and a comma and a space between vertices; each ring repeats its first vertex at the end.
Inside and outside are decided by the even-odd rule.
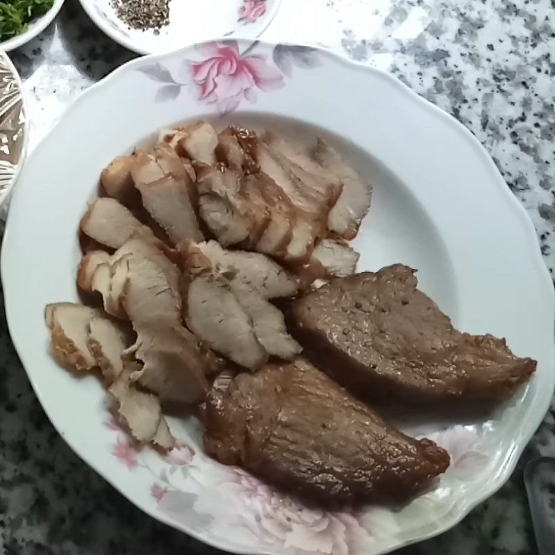
POLYGON ((176 441, 162 415, 160 400, 152 393, 139 391, 125 373, 108 389, 117 404, 117 412, 126 423, 130 434, 141 443, 153 443, 164 451, 176 441))

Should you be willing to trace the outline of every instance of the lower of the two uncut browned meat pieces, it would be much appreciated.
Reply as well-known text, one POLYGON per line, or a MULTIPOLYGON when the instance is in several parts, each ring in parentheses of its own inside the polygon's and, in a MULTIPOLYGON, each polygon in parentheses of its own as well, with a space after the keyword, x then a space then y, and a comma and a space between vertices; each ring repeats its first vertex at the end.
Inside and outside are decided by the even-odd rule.
POLYGON ((205 450, 327 504, 404 501, 449 455, 398 432, 302 359, 239 374, 207 395, 205 450))

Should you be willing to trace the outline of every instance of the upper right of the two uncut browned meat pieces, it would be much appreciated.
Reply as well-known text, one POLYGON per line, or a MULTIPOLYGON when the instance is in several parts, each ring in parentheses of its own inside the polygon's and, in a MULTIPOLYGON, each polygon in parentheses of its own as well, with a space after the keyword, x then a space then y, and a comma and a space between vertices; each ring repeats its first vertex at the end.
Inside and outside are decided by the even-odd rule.
POLYGON ((500 400, 529 379, 536 361, 504 339, 454 329, 397 264, 336 278, 293 302, 293 335, 355 395, 387 401, 500 400))

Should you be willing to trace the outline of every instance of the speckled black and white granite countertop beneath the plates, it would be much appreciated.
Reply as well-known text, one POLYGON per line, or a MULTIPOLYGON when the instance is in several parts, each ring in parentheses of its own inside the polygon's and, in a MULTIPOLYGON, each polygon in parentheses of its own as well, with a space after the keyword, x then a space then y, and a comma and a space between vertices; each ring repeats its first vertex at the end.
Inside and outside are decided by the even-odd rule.
MULTIPOLYGON (((263 38, 298 37, 391 71, 470 128, 527 208, 554 271, 552 1, 284 0, 263 38)), ((56 23, 12 58, 31 101, 33 146, 80 91, 133 54, 68 0, 56 23)), ((69 450, 35 399, 1 314, 0 551, 215 553, 135 509, 69 450)), ((555 456, 555 407, 499 493, 452 531, 400 553, 536 552, 522 467, 538 454, 555 456)))

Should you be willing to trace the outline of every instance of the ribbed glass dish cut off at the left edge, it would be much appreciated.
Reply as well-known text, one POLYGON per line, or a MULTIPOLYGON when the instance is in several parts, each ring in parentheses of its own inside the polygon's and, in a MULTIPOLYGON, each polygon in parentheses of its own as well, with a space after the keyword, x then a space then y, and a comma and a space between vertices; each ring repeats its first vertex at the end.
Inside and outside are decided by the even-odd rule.
POLYGON ((0 51, 0 206, 17 180, 27 139, 22 82, 10 58, 0 51))

